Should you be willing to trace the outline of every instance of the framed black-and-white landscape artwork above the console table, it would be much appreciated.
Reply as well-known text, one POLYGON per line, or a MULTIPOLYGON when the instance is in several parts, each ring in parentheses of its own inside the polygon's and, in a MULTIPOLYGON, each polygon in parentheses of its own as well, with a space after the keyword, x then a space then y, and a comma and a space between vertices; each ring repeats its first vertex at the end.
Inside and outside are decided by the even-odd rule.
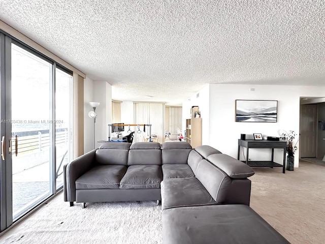
POLYGON ((276 100, 236 100, 236 122, 276 123, 278 101, 276 100))

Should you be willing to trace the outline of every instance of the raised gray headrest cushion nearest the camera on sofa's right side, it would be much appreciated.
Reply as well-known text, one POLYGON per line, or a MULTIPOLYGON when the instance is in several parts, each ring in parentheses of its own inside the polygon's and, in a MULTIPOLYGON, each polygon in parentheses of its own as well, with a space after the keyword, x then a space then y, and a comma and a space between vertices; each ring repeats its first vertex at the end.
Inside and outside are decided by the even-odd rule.
POLYGON ((254 170, 245 163, 225 154, 210 155, 208 160, 234 179, 245 179, 255 173, 254 170))

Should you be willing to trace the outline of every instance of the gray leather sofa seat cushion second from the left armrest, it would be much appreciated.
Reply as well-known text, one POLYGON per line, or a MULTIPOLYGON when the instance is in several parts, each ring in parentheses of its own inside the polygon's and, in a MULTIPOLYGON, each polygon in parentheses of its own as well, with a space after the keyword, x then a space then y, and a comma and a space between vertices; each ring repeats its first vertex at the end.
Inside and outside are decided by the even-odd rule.
POLYGON ((121 179, 121 189, 160 188, 163 180, 160 165, 131 165, 121 179))

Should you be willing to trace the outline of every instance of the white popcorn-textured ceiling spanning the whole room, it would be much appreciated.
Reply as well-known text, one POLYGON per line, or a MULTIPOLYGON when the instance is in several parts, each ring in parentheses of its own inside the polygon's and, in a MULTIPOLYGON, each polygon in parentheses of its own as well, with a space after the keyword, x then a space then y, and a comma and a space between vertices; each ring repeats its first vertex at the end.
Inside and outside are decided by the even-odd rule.
POLYGON ((325 85, 323 0, 1 0, 0 19, 108 81, 116 100, 180 104, 208 83, 325 85))

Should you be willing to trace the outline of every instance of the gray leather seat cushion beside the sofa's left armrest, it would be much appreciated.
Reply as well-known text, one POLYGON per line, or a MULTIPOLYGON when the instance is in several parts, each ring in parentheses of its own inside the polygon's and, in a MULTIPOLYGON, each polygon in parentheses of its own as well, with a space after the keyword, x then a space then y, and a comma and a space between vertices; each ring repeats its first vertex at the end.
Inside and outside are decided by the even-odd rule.
POLYGON ((118 189, 125 172, 124 165, 95 166, 76 180, 76 189, 118 189))

